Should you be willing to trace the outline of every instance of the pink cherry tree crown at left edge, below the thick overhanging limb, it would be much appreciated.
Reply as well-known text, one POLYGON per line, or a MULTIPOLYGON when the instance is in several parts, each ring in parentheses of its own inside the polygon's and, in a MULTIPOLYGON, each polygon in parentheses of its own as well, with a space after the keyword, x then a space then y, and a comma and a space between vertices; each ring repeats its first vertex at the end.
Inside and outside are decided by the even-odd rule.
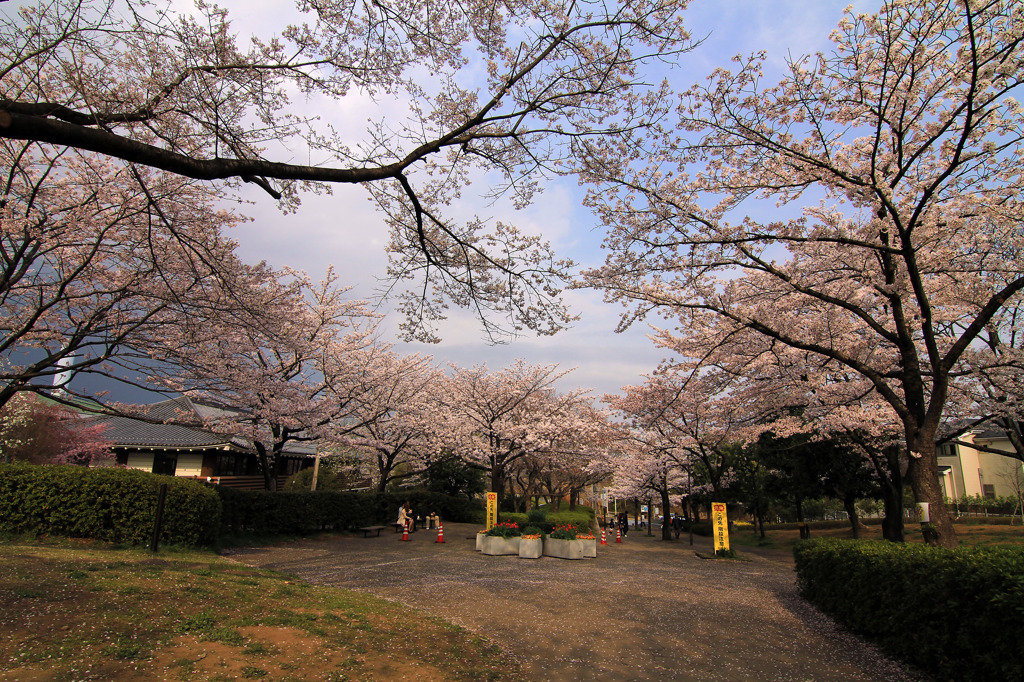
POLYGON ((148 347, 237 262, 195 181, 8 140, 0 161, 0 406, 148 347))

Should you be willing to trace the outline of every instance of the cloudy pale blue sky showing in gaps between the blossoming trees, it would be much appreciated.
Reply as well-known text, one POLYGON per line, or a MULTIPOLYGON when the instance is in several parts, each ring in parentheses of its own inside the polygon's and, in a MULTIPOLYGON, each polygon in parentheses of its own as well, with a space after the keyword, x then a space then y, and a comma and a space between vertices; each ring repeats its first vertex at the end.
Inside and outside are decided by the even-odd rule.
MULTIPOLYGON (((280 0, 231 0, 224 4, 233 28, 243 35, 252 31, 265 35, 273 26, 281 26, 280 0)), ((694 38, 707 40, 680 57, 670 78, 677 89, 682 89, 705 79, 716 67, 728 68, 730 57, 737 53, 764 50, 769 70, 766 82, 773 82, 787 54, 799 56, 828 48, 828 35, 846 4, 828 0, 693 0, 685 20, 694 38)), ((880 0, 859 2, 855 7, 874 11, 879 4, 880 0)), ((367 104, 358 97, 350 97, 323 114, 339 125, 365 125, 368 116, 380 113, 368 111, 367 104)), ((473 206, 471 202, 461 208, 541 233, 559 256, 589 267, 603 260, 600 244, 604 232, 583 208, 583 194, 572 179, 552 180, 534 205, 522 211, 501 205, 473 206)), ((265 195, 254 191, 249 198, 254 203, 244 206, 243 212, 254 219, 233 230, 244 260, 266 260, 274 266, 304 269, 313 276, 333 264, 342 283, 353 287, 353 297, 374 297, 387 266, 387 230, 364 189, 340 186, 332 196, 306 196, 301 208, 288 215, 278 211, 265 195)), ((463 367, 485 363, 498 370, 523 358, 530 364, 557 364, 562 370, 574 368, 559 381, 558 389, 589 388, 597 398, 618 392, 622 386, 641 383, 642 375, 652 372, 664 357, 664 351, 647 338, 650 329, 646 326, 615 334, 622 308, 603 303, 600 293, 569 291, 565 300, 581 319, 552 337, 524 336, 508 344, 492 345, 470 313, 453 310, 451 318, 440 327, 441 343, 396 342, 396 349, 429 354, 439 364, 463 367)), ((382 303, 379 310, 387 313, 388 303, 382 303)), ((394 313, 386 314, 383 338, 395 340, 398 322, 394 313)))

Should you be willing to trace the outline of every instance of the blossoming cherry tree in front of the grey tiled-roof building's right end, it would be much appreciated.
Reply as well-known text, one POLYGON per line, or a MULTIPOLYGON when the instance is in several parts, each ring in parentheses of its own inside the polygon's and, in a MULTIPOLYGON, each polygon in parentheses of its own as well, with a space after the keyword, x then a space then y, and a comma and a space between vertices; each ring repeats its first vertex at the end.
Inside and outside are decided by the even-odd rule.
POLYGON ((330 269, 319 283, 265 265, 236 274, 232 295, 245 306, 212 305, 166 330, 137 369, 207 406, 199 426, 252 443, 274 489, 286 445, 361 424, 356 408, 378 380, 376 317, 345 298, 330 269))

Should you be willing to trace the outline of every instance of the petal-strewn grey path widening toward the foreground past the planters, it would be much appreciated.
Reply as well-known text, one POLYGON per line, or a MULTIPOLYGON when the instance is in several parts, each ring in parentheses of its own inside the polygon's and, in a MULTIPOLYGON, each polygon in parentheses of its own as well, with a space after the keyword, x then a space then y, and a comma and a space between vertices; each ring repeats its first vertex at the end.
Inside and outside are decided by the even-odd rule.
POLYGON ((443 616, 522 659, 532 680, 914 680, 797 595, 788 554, 706 560, 710 541, 633 530, 597 559, 484 556, 477 526, 445 543, 307 540, 233 558, 311 583, 361 590, 443 616))

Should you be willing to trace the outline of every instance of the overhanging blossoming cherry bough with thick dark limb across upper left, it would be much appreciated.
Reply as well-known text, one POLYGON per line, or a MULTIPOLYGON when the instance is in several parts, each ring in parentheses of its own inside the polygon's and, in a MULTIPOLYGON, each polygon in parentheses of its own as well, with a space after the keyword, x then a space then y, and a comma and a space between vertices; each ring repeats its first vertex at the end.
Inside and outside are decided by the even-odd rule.
POLYGON ((687 49, 685 4, 300 2, 295 24, 247 40, 208 3, 43 0, 0 20, 0 137, 254 183, 286 209, 362 184, 389 222, 391 276, 415 285, 409 335, 432 338, 445 302, 493 335, 553 333, 571 317, 568 264, 445 207, 484 175, 490 198, 524 206, 580 140, 649 125, 646 66, 687 49), (349 97, 408 116, 372 113, 361 137, 321 120, 349 97))

